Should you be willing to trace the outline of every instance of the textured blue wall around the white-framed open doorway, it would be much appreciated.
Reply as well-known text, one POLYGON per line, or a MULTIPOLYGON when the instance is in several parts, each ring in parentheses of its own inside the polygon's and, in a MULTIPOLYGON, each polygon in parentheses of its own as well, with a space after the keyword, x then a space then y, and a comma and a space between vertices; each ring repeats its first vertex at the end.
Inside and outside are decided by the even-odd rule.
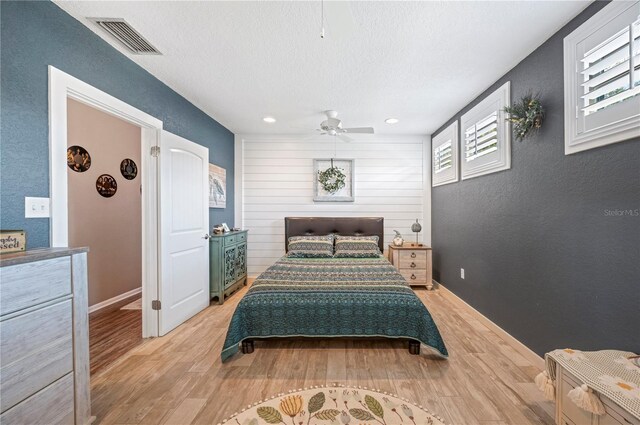
POLYGON ((210 223, 233 224, 233 133, 51 2, 0 3, 0 227, 25 229, 28 247, 49 246, 49 220, 25 219, 25 196, 49 196, 48 65, 164 122, 209 148, 227 170, 227 208, 210 223))

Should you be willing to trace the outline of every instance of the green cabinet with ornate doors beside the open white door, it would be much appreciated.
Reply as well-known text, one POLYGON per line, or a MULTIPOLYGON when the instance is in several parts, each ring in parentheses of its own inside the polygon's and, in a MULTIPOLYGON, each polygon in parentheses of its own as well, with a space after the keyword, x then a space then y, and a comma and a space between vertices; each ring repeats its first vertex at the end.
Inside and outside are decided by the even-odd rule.
POLYGON ((209 237, 209 291, 218 303, 247 284, 247 230, 209 237))

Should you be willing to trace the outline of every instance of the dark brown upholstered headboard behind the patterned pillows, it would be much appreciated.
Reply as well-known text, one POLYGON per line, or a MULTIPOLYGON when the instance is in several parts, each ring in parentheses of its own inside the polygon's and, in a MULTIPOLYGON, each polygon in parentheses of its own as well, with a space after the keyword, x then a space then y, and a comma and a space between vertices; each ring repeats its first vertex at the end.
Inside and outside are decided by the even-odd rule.
POLYGON ((377 236, 380 252, 384 251, 384 218, 382 217, 285 217, 284 248, 289 250, 291 236, 328 235, 377 236))

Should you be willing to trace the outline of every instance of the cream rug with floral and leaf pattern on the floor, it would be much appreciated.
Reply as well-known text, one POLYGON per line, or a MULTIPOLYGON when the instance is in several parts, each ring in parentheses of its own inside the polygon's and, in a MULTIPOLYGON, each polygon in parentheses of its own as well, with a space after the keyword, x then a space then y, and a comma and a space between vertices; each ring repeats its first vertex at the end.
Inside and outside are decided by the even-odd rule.
MULTIPOLYGON (((442 418, 407 399, 379 390, 311 387, 248 406, 225 425, 444 425, 442 418)), ((221 425, 221 424, 218 424, 221 425)))

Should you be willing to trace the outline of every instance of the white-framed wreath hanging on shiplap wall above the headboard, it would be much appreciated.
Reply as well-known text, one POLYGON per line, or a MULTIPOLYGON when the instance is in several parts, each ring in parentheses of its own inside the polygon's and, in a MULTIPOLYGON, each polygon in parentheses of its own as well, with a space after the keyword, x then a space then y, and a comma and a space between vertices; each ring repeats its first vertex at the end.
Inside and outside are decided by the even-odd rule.
POLYGON ((314 159, 313 176, 315 202, 355 200, 353 159, 314 159))

